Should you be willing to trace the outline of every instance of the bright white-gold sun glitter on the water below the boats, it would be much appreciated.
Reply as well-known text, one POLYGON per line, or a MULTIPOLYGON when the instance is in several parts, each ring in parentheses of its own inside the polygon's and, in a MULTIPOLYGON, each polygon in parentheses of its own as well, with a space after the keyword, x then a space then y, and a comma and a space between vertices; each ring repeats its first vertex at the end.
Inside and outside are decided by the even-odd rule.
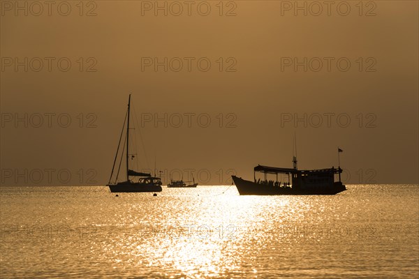
MULTIPOLYGON (((270 250, 278 225, 299 222, 310 208, 301 199, 285 196, 261 200, 220 195, 170 202, 173 204, 154 207, 158 213, 152 219, 119 216, 119 229, 129 229, 117 232, 119 241, 108 248, 115 252, 116 266, 159 267, 161 276, 206 278, 240 275, 244 262, 249 265, 250 260, 253 264, 248 267, 256 274, 258 254, 270 250), (182 206, 175 206, 179 202, 182 206), (167 208, 176 210, 165 211, 167 208), (128 235, 133 231, 135 235, 128 235)), ((133 206, 133 212, 138 207, 133 206)))

